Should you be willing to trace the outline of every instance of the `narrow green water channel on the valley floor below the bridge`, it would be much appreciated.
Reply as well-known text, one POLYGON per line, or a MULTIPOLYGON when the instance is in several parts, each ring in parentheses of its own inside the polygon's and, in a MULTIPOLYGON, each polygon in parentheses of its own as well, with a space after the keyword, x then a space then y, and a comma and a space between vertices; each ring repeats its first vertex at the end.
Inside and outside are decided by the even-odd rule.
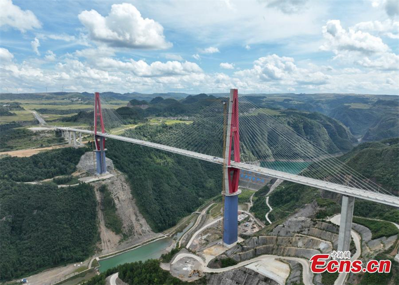
MULTIPOLYGON (((184 228, 180 233, 177 233, 173 238, 180 239, 193 225, 194 220, 184 228)), ((162 252, 171 245, 172 239, 165 238, 149 244, 146 244, 140 248, 128 251, 126 253, 100 260, 100 272, 105 272, 110 268, 116 267, 124 263, 131 263, 135 261, 146 261, 148 259, 157 259, 161 257, 162 252)))

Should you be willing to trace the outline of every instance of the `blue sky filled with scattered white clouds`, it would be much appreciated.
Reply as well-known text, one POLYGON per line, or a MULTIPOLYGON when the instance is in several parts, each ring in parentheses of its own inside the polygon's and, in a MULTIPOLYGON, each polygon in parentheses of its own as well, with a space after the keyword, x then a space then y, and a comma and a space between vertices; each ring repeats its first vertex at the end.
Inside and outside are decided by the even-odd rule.
POLYGON ((0 1, 1 92, 399 93, 398 1, 0 1))

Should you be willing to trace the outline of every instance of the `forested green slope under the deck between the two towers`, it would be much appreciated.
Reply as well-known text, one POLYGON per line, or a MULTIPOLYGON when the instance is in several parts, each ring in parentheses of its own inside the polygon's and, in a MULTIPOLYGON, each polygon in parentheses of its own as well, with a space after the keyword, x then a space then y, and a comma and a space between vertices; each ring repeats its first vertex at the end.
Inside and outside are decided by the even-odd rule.
POLYGON ((109 140, 107 156, 126 173, 140 212, 162 231, 220 193, 220 166, 109 140))

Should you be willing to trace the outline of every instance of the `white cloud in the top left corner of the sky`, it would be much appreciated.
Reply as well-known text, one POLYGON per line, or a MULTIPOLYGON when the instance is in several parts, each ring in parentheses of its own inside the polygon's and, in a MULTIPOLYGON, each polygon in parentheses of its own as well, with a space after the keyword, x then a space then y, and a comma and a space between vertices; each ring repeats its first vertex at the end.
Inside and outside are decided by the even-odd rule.
POLYGON ((0 1, 0 26, 11 26, 21 32, 33 28, 40 28, 41 23, 30 10, 22 10, 11 0, 0 1))

